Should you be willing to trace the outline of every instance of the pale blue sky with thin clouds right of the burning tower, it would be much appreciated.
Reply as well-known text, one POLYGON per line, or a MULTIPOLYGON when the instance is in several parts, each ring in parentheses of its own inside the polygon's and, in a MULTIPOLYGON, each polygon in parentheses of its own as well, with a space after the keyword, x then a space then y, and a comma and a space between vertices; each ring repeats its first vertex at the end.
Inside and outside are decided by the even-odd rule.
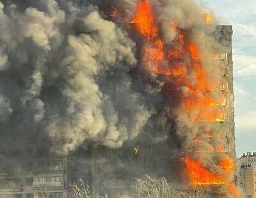
POLYGON ((206 0, 220 24, 233 26, 236 154, 256 152, 256 1, 206 0))

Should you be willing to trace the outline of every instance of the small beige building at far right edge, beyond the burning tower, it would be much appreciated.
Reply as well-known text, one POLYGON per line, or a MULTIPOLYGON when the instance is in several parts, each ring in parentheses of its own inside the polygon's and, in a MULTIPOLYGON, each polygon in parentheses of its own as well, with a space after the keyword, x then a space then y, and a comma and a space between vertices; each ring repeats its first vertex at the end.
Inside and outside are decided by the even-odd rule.
POLYGON ((244 197, 256 197, 256 152, 247 152, 237 162, 237 185, 244 197))

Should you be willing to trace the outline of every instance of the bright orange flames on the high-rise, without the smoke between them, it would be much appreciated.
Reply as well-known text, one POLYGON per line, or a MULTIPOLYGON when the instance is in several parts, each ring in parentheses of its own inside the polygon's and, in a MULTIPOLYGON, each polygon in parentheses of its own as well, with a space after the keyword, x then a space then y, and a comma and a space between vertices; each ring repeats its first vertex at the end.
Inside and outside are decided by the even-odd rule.
MULTIPOLYGON (((205 24, 211 23, 211 15, 204 13, 205 24)), ((202 65, 202 54, 200 47, 196 43, 188 42, 186 34, 177 27, 175 22, 170 24, 170 31, 176 31, 177 38, 173 41, 173 47, 165 45, 157 28, 157 22, 150 10, 147 0, 140 1, 138 8, 131 21, 136 26, 143 45, 143 64, 148 66, 154 73, 165 75, 170 82, 175 82, 175 88, 168 90, 180 90, 186 86, 186 93, 182 96, 182 105, 189 115, 192 122, 222 122, 226 121, 225 107, 227 104, 222 102, 222 98, 214 98, 209 94, 210 90, 222 90, 220 79, 209 79, 210 73, 202 65), (183 59, 190 56, 191 61, 187 63, 183 59), (187 65, 185 65, 187 64, 187 65), (179 78, 179 79, 178 79, 179 78)), ((212 55, 216 58, 216 56, 212 55)), ((211 72, 211 75, 216 75, 211 72)), ((227 91, 227 90, 223 90, 227 91)), ((221 95, 222 96, 222 95, 221 95)), ((214 132, 205 132, 201 137, 209 138, 204 141, 211 141, 216 137, 214 132)), ((196 153, 223 153, 223 144, 211 145, 211 148, 200 148, 202 140, 196 139, 194 135, 196 153)), ((211 144, 211 143, 210 143, 211 144)), ((134 153, 138 153, 138 147, 134 148, 134 153)), ((198 154, 199 155, 199 154, 198 154)), ((228 181, 224 175, 214 174, 204 167, 202 162, 196 162, 188 157, 182 158, 186 164, 186 171, 191 185, 225 185, 231 194, 236 194, 236 188, 228 181)), ((234 162, 229 158, 220 160, 220 167, 224 173, 234 169, 234 162)), ((223 173, 223 174, 224 174, 223 173)))

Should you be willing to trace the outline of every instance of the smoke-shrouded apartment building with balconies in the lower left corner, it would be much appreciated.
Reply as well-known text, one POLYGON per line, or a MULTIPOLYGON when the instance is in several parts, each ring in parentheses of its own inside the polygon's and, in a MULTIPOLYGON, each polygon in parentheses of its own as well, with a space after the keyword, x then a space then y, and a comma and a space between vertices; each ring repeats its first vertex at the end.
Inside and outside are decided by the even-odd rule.
POLYGON ((26 156, 0 171, 0 198, 66 198, 68 159, 26 156))

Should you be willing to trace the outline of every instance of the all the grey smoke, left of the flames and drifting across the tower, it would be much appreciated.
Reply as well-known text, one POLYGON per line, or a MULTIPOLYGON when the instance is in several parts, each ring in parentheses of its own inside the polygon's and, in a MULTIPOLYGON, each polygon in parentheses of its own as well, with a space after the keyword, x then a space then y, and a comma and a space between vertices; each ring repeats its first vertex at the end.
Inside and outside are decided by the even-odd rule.
MULTIPOLYGON (((195 1, 148 2, 156 24, 161 22, 157 26, 164 45, 175 45, 177 33, 170 31, 174 21, 191 42, 200 46, 205 70, 221 70, 219 61, 211 57, 223 51, 212 36, 216 26, 205 26, 202 9, 195 1)), ((132 140, 163 142, 171 137, 170 147, 163 148, 173 148, 167 152, 175 158, 173 161, 179 162, 179 156, 187 151, 221 174, 220 157, 195 151, 211 147, 212 142, 222 144, 223 131, 229 126, 191 123, 180 101, 179 107, 173 105, 177 100, 174 91, 166 97, 170 99, 166 104, 167 99, 159 93, 164 80, 140 64, 136 36, 133 38, 125 29, 137 3, 0 0, 1 149, 17 149, 35 142, 66 155, 90 142, 120 148, 132 140), (108 18, 111 6, 120 9, 116 22, 108 18), (211 130, 217 138, 204 139, 196 146, 191 133, 198 135, 202 129, 211 130)), ((184 57, 182 61, 189 68, 191 59, 184 57)), ((196 81, 195 73, 190 72, 191 82, 196 81)), ((190 94, 186 85, 182 86, 182 94, 190 94)), ((203 96, 200 91, 196 94, 203 96)), ((232 100, 232 95, 228 97, 232 100)), ((230 142, 231 147, 233 144, 230 142)), ((230 181, 232 174, 228 176, 230 181)))

